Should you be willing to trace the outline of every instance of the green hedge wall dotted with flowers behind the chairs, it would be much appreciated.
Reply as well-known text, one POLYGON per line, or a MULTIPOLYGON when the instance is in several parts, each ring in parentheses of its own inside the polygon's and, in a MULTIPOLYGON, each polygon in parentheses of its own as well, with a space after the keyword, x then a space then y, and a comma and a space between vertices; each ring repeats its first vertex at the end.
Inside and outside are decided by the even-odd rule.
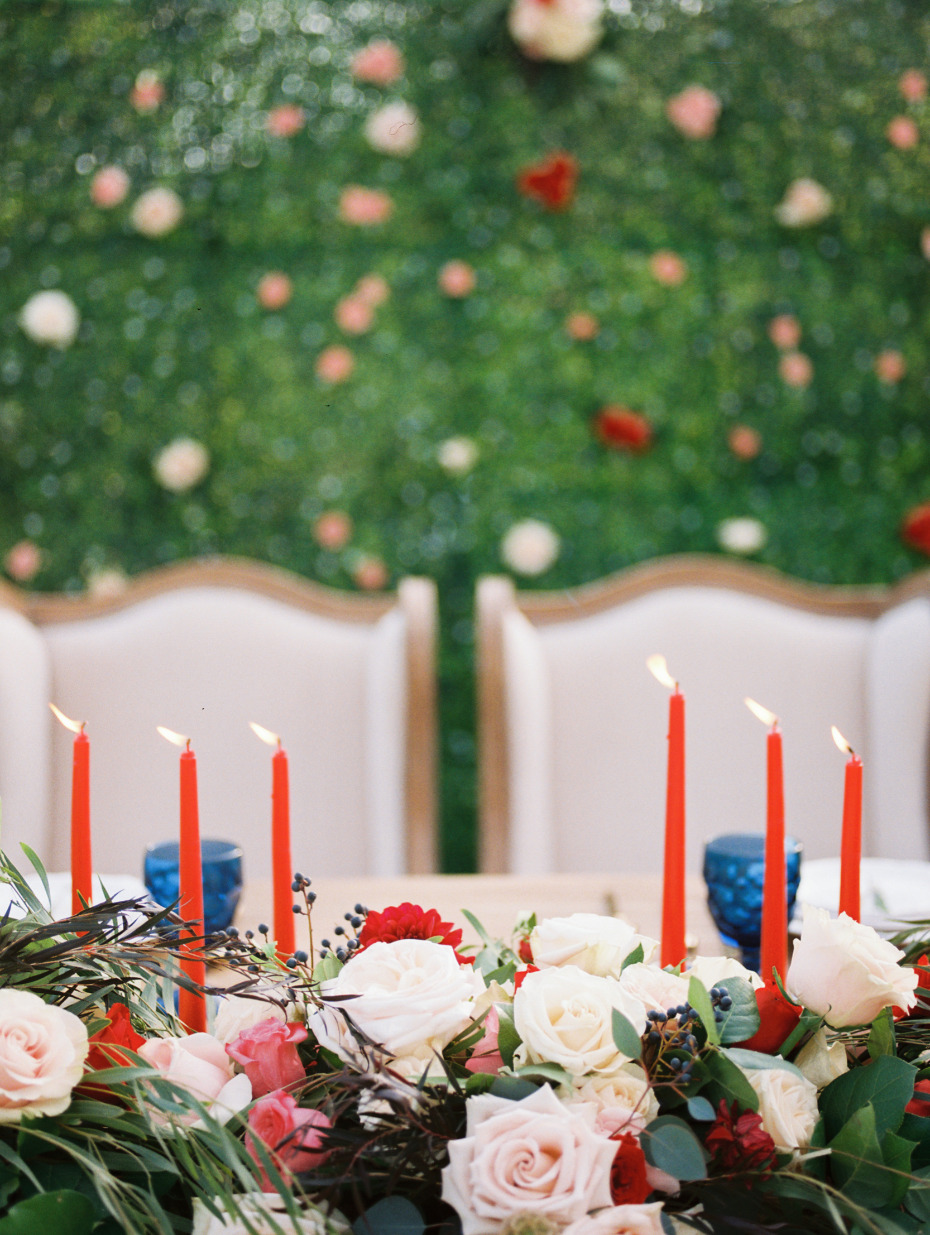
POLYGON ((924 561, 902 520, 930 498, 929 44, 921 0, 613 0, 572 64, 522 56, 488 0, 6 4, 7 571, 79 589, 224 552, 336 587, 432 576, 443 853, 468 868, 473 589, 505 568, 515 522, 559 538, 526 587, 723 551, 734 517, 756 521, 745 550, 765 535, 756 559, 804 578, 924 561), (389 86, 352 72, 373 38, 403 53, 389 86), (666 110, 694 84, 720 103, 709 137, 666 110), (364 132, 395 100, 420 120, 405 157, 364 132), (282 105, 303 112, 290 136, 269 131, 282 105), (519 184, 556 152, 577 165, 558 210, 519 184), (111 165, 130 184, 105 209, 91 186, 111 165), (799 178, 832 209, 787 226, 776 207, 799 178), (388 194, 392 216, 343 221, 348 185, 388 194), (132 224, 153 186, 184 210, 158 237, 132 224), (450 261, 473 269, 468 294, 437 285, 450 261), (268 272, 290 279, 279 309, 257 299, 268 272), (347 333, 333 312, 371 273, 390 295, 347 333), (70 346, 23 330, 43 289, 79 311, 70 346), (573 314, 594 337, 571 337, 573 314), (797 346, 772 341, 778 315, 797 346), (354 368, 327 383, 331 346, 354 368), (645 448, 594 431, 605 405, 643 417, 620 431, 645 448), (173 492, 153 461, 179 437, 209 469, 173 492), (455 437, 471 468, 461 446, 459 471, 441 463, 455 437), (319 524, 332 511, 346 543, 345 521, 319 524))

